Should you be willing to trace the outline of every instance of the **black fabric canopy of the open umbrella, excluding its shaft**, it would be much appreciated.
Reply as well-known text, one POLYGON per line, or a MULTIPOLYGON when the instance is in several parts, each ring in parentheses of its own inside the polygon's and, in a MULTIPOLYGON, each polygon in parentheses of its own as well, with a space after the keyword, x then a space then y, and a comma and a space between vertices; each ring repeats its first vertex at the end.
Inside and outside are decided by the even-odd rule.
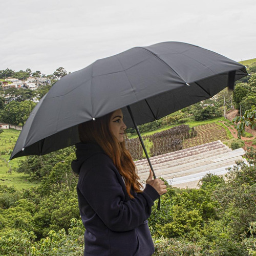
POLYGON ((10 159, 79 142, 77 125, 122 109, 126 126, 210 98, 247 75, 240 63, 183 42, 135 47, 62 77, 39 101, 10 159))

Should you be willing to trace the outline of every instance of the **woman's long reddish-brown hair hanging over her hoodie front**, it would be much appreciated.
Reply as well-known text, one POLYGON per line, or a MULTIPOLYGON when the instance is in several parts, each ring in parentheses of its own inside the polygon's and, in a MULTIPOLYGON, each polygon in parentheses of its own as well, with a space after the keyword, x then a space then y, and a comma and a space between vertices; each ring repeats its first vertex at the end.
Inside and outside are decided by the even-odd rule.
MULTIPOLYGON (((113 112, 112 112, 113 113, 113 112)), ((110 118, 112 113, 78 125, 80 141, 83 143, 97 143, 102 150, 114 162, 119 173, 125 180, 128 195, 131 198, 131 188, 137 193, 141 192, 142 185, 136 173, 135 164, 129 151, 125 148, 125 142, 118 142, 110 130, 110 118)))

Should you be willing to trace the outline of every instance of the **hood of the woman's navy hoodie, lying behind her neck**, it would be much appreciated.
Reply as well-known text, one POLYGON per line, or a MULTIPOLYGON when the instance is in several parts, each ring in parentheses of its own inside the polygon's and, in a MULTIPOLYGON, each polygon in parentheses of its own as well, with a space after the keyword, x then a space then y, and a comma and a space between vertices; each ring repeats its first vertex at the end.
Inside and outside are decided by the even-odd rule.
POLYGON ((73 160, 71 163, 71 167, 73 171, 77 174, 80 172, 80 168, 84 161, 95 154, 104 154, 104 151, 98 144, 91 143, 77 143, 76 144, 76 160, 73 160))

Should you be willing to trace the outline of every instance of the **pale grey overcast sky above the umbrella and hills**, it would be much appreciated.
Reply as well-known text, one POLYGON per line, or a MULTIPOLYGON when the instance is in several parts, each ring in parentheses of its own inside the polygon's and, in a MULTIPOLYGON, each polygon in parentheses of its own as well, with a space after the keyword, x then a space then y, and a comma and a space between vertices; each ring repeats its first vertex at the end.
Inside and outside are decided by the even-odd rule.
POLYGON ((162 41, 256 58, 255 0, 1 0, 0 10, 0 70, 73 72, 162 41))

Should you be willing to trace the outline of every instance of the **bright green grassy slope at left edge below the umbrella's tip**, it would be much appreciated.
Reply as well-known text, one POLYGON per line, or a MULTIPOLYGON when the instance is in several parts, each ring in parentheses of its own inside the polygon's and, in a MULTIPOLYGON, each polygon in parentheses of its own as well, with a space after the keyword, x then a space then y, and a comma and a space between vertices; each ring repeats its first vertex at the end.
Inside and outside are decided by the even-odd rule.
POLYGON ((19 133, 19 131, 14 129, 8 129, 3 130, 3 133, 0 134, 0 185, 26 189, 32 186, 38 186, 39 182, 28 182, 29 175, 15 172, 19 161, 24 158, 15 158, 8 162, 19 133))

